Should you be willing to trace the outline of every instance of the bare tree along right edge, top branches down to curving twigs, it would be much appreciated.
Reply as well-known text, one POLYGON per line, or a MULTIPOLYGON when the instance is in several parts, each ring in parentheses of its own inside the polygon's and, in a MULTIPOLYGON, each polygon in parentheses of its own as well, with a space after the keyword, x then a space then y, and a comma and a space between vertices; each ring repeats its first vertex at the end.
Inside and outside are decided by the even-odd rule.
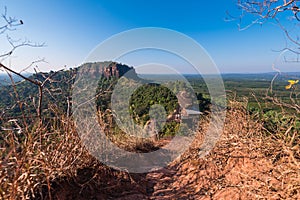
MULTIPOLYGON (((299 63, 300 59, 300 1, 299 0, 237 0, 237 6, 241 10, 239 17, 233 17, 228 13, 231 19, 239 20, 238 27, 240 30, 245 30, 253 25, 263 25, 266 22, 275 22, 281 30, 284 32, 287 43, 283 49, 279 52, 280 56, 283 56, 284 62, 296 62, 299 63), (249 23, 247 17, 251 18, 249 23), (293 55, 292 58, 287 58, 285 54, 293 55)), ((280 106, 294 109, 297 113, 300 113, 300 106, 298 103, 296 93, 297 84, 290 84, 290 103, 286 103, 276 95, 273 94, 273 82, 281 73, 273 64, 273 69, 278 73, 274 76, 271 86, 271 96, 267 95, 267 98, 271 98, 272 101, 280 106)), ((289 83, 298 83, 298 80, 289 80, 289 83)))

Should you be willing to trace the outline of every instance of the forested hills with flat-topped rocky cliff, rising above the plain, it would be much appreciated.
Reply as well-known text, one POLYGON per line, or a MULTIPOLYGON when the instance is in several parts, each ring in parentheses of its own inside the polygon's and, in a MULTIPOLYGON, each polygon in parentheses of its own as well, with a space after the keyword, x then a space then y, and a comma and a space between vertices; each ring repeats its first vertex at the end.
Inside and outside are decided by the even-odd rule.
MULTIPOLYGON (((200 101, 203 108, 207 108, 209 104, 209 101, 202 98, 202 95, 193 96, 192 89, 185 82, 179 80, 174 82, 173 80, 166 82, 165 86, 154 84, 151 80, 139 78, 133 67, 116 62, 85 63, 74 69, 37 73, 29 78, 43 84, 41 105, 39 104, 40 91, 37 85, 29 81, 21 81, 15 85, 15 89, 11 85, 3 86, 0 91, 2 97, 0 99, 1 121, 5 122, 18 117, 22 119, 24 117, 26 119, 28 117, 37 118, 40 112, 47 121, 61 114, 69 116, 72 111, 73 91, 76 95, 79 94, 76 96, 80 98, 79 102, 95 101, 95 109, 107 114, 107 118, 111 117, 111 111, 118 112, 123 116, 124 113, 128 113, 129 109, 129 113, 136 123, 142 126, 150 120, 151 112, 159 110, 157 105, 161 105, 165 109, 159 112, 162 113, 160 116, 162 119, 166 118, 163 113, 173 119, 173 115, 178 114, 180 110, 178 104, 180 99, 176 97, 180 91, 187 91, 185 96, 189 100, 187 103, 186 100, 181 99, 180 102, 184 105, 180 106, 183 108, 197 106, 200 101), (92 91, 90 88, 95 88, 95 80, 98 81, 97 89, 92 91), (90 87, 90 83, 92 83, 92 87, 90 87), (134 88, 136 90, 132 93, 134 88), (114 96, 114 107, 111 98, 113 93, 117 94, 114 96), (128 95, 130 96, 128 97, 128 95), (93 97, 96 97, 95 100, 93 97)), ((78 99, 76 102, 78 103, 78 99)), ((123 117, 126 120, 128 118, 125 114, 123 117)), ((113 126, 112 122, 107 121, 106 123, 113 126)), ((163 133, 173 134, 175 131, 172 128, 173 125, 178 128, 178 123, 174 123, 174 120, 169 120, 167 122, 169 126, 162 129, 163 133)))

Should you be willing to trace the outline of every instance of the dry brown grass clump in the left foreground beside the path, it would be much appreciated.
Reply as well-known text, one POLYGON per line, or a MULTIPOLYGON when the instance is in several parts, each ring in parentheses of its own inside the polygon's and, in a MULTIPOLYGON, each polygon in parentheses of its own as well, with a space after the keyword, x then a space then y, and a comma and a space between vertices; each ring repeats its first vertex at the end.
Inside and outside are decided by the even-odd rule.
MULTIPOLYGON (((81 146, 72 121, 61 117, 49 125, 2 132, 0 149, 0 196, 2 199, 28 199, 50 191, 57 177, 73 176, 90 165, 93 158, 81 146), (29 130, 29 131, 27 131, 29 130), (20 141, 22 140, 22 141, 20 141)), ((50 193, 49 193, 50 194, 50 193)))

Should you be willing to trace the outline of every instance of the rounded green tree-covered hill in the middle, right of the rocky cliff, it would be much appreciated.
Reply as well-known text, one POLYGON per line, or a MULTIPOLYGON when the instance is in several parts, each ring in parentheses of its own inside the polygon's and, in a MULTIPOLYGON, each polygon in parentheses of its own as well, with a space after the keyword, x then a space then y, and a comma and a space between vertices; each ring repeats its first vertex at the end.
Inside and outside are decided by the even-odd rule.
MULTIPOLYGON (((134 126, 128 120, 129 118, 133 119, 134 123, 142 129, 145 129, 145 125, 151 123, 151 120, 155 118, 156 122, 154 123, 161 136, 174 135, 180 123, 167 120, 167 116, 172 118, 175 113, 180 112, 176 95, 185 93, 187 99, 193 99, 193 89, 182 80, 165 81, 164 77, 160 77, 164 81, 159 83, 159 81, 151 79, 151 76, 144 79, 136 76, 135 72, 132 73, 130 76, 120 79, 116 77, 100 78, 96 105, 98 111, 104 113, 103 123, 111 126, 110 134, 122 134, 122 131, 115 125, 115 119, 112 119, 112 112, 117 111, 118 120, 125 123, 127 128, 134 126), (111 101, 112 99, 114 101, 111 101), (129 115, 127 115, 128 109, 129 115)), ((195 95, 195 98, 189 103, 190 105, 186 105, 185 108, 193 109, 194 105, 197 107, 196 109, 200 107, 202 111, 209 110, 209 99, 205 99, 201 93, 195 95)), ((130 130, 128 131, 130 132, 130 130)))

